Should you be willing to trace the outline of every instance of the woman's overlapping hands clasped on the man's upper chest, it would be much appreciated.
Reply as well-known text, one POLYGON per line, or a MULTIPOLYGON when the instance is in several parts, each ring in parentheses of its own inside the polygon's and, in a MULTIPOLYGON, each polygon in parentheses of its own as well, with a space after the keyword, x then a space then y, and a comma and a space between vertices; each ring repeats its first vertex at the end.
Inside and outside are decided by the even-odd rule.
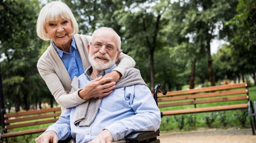
POLYGON ((80 90, 78 95, 84 100, 90 98, 102 98, 112 93, 116 81, 118 81, 120 77, 121 74, 117 71, 112 71, 103 77, 100 76, 87 84, 83 90, 80 90))

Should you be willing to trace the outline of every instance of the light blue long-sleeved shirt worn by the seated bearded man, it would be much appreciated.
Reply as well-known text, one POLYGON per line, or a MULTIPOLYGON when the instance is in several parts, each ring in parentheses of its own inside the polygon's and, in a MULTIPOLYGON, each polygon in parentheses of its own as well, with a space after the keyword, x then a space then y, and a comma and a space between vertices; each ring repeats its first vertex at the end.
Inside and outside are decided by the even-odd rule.
MULTIPOLYGON (((103 71, 100 75, 111 72, 103 71)), ((79 86, 84 87, 91 80, 91 67, 85 74, 79 76, 79 86)), ((95 120, 90 126, 75 126, 77 107, 65 109, 59 120, 48 127, 47 131, 55 131, 59 140, 64 140, 72 135, 76 143, 87 143, 95 138, 103 129, 108 129, 113 135, 113 140, 120 140, 138 131, 156 131, 159 129, 161 118, 151 91, 145 85, 132 85, 119 88, 104 98, 100 104, 95 120)), ((46 132, 47 132, 46 131, 46 132)))

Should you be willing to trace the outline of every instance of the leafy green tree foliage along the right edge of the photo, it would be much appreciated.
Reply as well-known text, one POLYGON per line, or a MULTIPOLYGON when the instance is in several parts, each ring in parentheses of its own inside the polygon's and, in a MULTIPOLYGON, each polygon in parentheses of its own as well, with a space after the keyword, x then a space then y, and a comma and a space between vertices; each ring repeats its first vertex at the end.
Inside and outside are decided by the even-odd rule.
POLYGON ((246 61, 241 63, 242 76, 252 74, 256 85, 256 0, 239 0, 236 10, 238 14, 226 23, 235 31, 230 43, 235 48, 234 56, 246 61))

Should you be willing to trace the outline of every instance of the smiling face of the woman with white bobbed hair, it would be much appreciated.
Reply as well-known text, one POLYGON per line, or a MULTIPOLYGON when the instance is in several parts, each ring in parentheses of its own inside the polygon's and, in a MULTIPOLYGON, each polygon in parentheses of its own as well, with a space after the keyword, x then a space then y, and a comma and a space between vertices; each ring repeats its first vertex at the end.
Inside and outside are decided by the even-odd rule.
POLYGON ((61 50, 70 48, 71 38, 73 36, 70 35, 73 33, 70 20, 64 18, 58 21, 50 21, 45 26, 45 30, 58 48, 61 50))

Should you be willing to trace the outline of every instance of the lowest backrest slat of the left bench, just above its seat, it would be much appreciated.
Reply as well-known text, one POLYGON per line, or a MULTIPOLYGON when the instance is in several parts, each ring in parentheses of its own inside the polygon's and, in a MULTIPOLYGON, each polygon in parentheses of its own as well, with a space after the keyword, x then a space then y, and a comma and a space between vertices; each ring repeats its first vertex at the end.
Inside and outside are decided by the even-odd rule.
POLYGON ((58 118, 44 120, 44 121, 35 121, 35 122, 29 122, 29 123, 20 123, 20 124, 6 125, 6 129, 14 129, 14 128, 19 128, 19 127, 24 127, 24 126, 41 125, 41 124, 45 124, 45 123, 54 123, 57 120, 58 120, 58 118))

